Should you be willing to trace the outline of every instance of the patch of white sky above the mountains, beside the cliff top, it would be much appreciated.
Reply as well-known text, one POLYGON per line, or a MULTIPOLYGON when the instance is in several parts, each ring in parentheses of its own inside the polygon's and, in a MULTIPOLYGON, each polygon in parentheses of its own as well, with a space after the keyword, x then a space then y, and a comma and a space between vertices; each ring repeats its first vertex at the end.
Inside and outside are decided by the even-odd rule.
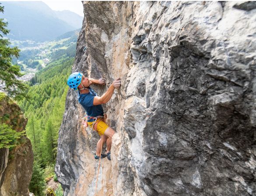
POLYGON ((81 0, 74 0, 74 1, 52 0, 52 1, 43 1, 43 2, 46 3, 52 10, 56 10, 56 11, 70 10, 84 17, 83 3, 81 2, 81 0))

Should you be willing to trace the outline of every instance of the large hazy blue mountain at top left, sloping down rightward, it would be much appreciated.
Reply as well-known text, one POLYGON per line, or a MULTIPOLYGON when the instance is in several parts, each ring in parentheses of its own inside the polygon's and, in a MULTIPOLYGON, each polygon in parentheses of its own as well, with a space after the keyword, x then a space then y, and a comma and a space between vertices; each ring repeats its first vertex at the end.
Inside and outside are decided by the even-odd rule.
POLYGON ((5 18, 10 29, 8 38, 43 42, 52 40, 77 27, 61 20, 46 3, 42 1, 2 1, 5 18))

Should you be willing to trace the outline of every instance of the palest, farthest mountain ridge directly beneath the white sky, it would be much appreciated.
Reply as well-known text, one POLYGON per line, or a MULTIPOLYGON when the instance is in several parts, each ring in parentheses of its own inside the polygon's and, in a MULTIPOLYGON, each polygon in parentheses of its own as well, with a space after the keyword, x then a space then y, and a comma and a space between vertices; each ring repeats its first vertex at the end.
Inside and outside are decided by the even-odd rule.
POLYGON ((80 15, 71 12, 70 10, 53 11, 57 15, 57 17, 60 18, 60 20, 65 21, 67 24, 73 26, 75 29, 82 27, 84 17, 81 17, 80 15))

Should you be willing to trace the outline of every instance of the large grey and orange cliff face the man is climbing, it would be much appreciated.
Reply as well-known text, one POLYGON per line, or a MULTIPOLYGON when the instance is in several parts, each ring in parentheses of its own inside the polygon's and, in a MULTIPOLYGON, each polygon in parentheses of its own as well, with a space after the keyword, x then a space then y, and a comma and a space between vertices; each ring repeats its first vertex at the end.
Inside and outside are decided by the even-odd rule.
MULTIPOLYGON (((256 195, 253 2, 85 2, 72 69, 121 88, 98 196, 256 195), (87 46, 87 47, 86 47, 87 46), (85 52, 83 51, 86 47, 85 52)), ((56 174, 64 196, 93 196, 99 136, 69 90, 56 174)))

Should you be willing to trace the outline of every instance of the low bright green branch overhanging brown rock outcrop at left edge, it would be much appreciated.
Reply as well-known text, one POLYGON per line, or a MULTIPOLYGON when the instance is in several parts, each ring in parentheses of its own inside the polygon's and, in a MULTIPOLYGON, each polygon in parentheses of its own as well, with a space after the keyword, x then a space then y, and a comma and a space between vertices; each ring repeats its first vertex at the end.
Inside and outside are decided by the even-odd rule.
POLYGON ((13 148, 17 146, 18 139, 25 134, 25 131, 16 132, 5 123, 0 123, 0 149, 13 148), (15 142, 16 141, 16 142, 15 142))

